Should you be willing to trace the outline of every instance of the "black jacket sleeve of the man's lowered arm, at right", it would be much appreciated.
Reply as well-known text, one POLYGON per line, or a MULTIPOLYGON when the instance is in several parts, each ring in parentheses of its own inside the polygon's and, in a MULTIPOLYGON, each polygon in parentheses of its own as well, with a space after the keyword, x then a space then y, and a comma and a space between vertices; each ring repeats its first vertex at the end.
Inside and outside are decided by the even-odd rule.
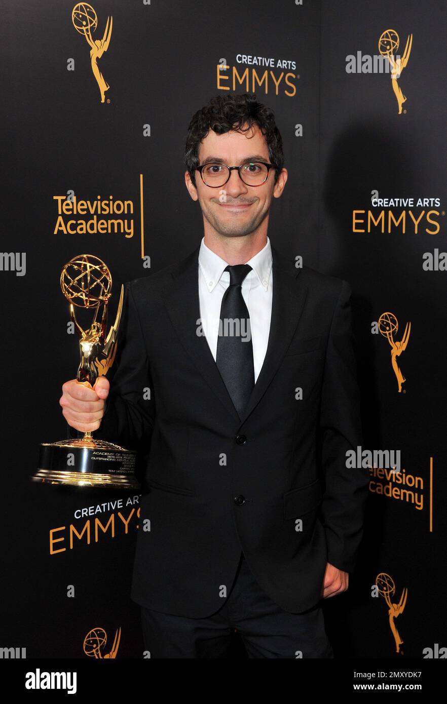
POLYGON ((325 491, 320 506, 327 561, 353 572, 363 536, 369 473, 346 467, 346 452, 362 444, 360 390, 353 346, 351 287, 341 281, 329 331, 320 408, 320 452, 325 491))

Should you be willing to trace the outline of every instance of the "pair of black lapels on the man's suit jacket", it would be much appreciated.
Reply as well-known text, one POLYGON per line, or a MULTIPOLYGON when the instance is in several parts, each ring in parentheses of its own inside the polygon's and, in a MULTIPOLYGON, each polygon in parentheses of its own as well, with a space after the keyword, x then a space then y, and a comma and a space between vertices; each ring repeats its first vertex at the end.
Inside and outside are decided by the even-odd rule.
MULTIPOLYGON (((218 367, 204 334, 197 335, 200 320, 199 301, 199 249, 200 246, 184 259, 172 272, 172 289, 165 289, 166 310, 191 360, 205 379, 208 386, 218 396, 234 420, 241 425, 256 408, 263 394, 272 381, 282 356, 294 335, 298 320, 303 311, 308 293, 304 284, 296 285, 299 269, 295 269, 272 246, 273 259, 273 294, 270 334, 263 366, 248 400, 244 415, 239 418, 234 408, 227 387, 220 376, 218 367)), ((299 279, 298 279, 299 282, 299 279)), ((194 403, 194 399, 191 399, 194 403)))

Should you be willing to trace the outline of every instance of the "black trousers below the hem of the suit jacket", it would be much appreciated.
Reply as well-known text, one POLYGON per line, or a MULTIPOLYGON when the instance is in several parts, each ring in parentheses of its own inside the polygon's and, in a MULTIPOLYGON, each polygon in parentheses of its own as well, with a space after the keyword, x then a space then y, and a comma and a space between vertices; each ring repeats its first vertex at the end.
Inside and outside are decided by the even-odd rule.
POLYGON ((144 646, 151 658, 227 658, 239 631, 248 658, 334 658, 319 604, 299 614, 283 611, 260 588, 241 554, 232 589, 206 618, 187 618, 141 606, 144 646))

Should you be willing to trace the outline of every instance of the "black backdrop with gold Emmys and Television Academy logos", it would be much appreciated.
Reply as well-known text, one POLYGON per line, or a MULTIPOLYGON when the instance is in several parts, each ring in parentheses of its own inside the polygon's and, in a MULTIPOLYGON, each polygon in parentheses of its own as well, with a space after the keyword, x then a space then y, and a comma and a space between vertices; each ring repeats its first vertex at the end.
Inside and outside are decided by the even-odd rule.
MULTIPOLYGON (((339 658, 446 657, 447 4, 1 1, 1 643, 27 658, 144 658, 130 601, 138 491, 32 484, 77 337, 59 277, 120 284, 203 234, 191 115, 255 92, 282 133, 269 236, 343 277, 370 500, 358 569, 325 601, 339 658), (396 471, 397 470, 397 471, 396 471)), ((156 570, 156 565, 151 566, 156 570)), ((235 643, 235 653, 241 655, 235 643)))

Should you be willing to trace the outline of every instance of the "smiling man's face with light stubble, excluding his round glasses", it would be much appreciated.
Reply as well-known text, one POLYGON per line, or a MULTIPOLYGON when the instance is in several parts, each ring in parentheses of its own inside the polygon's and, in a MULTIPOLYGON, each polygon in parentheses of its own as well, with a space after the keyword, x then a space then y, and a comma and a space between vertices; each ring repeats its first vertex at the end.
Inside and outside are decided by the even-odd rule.
MULTIPOLYGON (((216 159, 227 166, 239 166, 244 161, 270 163, 265 137, 257 125, 244 133, 215 134, 210 130, 199 146, 199 165, 216 159)), ((203 218, 211 227, 224 237, 242 237, 256 230, 268 215, 272 198, 282 193, 287 171, 283 170, 275 186, 273 168, 260 186, 246 185, 237 170, 231 172, 227 183, 220 188, 206 186, 199 171, 195 172, 195 188, 188 172, 185 177, 191 198, 199 199, 203 218)))

